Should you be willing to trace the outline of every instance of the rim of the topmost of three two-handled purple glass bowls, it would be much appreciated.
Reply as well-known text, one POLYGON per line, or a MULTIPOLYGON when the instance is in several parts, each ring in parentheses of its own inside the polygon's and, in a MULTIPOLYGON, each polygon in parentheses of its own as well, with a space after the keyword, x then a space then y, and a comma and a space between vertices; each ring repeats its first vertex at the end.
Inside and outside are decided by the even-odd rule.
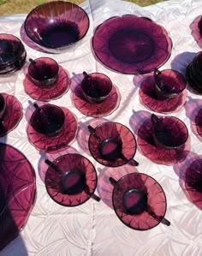
MULTIPOLYGON (((118 164, 118 165, 115 165, 115 166, 110 166, 109 164, 103 164, 103 163, 101 163, 100 161, 98 161, 97 158, 94 158, 94 156, 92 155, 92 152, 91 152, 91 150, 90 150, 90 143, 91 143, 91 142, 90 142, 90 138, 91 138, 91 136, 93 136, 93 134, 90 133, 89 138, 88 138, 88 149, 89 149, 89 151, 91 152, 92 158, 94 158, 99 164, 102 164, 102 165, 107 166, 107 167, 110 167, 110 168, 114 168, 114 167, 123 166, 123 165, 125 165, 125 164, 128 164, 130 161, 132 161, 132 160, 134 159, 135 153, 137 152, 137 146, 138 146, 138 145, 137 145, 137 140, 135 139, 135 136, 134 136, 134 134, 132 133, 132 131, 131 131, 126 125, 122 124, 121 122, 112 122, 112 121, 109 121, 109 122, 102 122, 102 123, 98 124, 94 129, 96 130, 97 128, 100 128, 101 126, 103 126, 103 125, 105 125, 105 124, 109 124, 109 123, 118 124, 118 125, 123 126, 124 128, 127 128, 127 129, 128 129, 128 132, 130 132, 130 134, 132 134, 132 136, 134 137, 134 142, 135 142, 134 155, 133 155, 133 157, 131 157, 130 159, 128 159, 128 162, 127 162, 127 163, 118 164)), ((108 161, 108 160, 107 160, 107 162, 111 162, 111 161, 108 161)))

